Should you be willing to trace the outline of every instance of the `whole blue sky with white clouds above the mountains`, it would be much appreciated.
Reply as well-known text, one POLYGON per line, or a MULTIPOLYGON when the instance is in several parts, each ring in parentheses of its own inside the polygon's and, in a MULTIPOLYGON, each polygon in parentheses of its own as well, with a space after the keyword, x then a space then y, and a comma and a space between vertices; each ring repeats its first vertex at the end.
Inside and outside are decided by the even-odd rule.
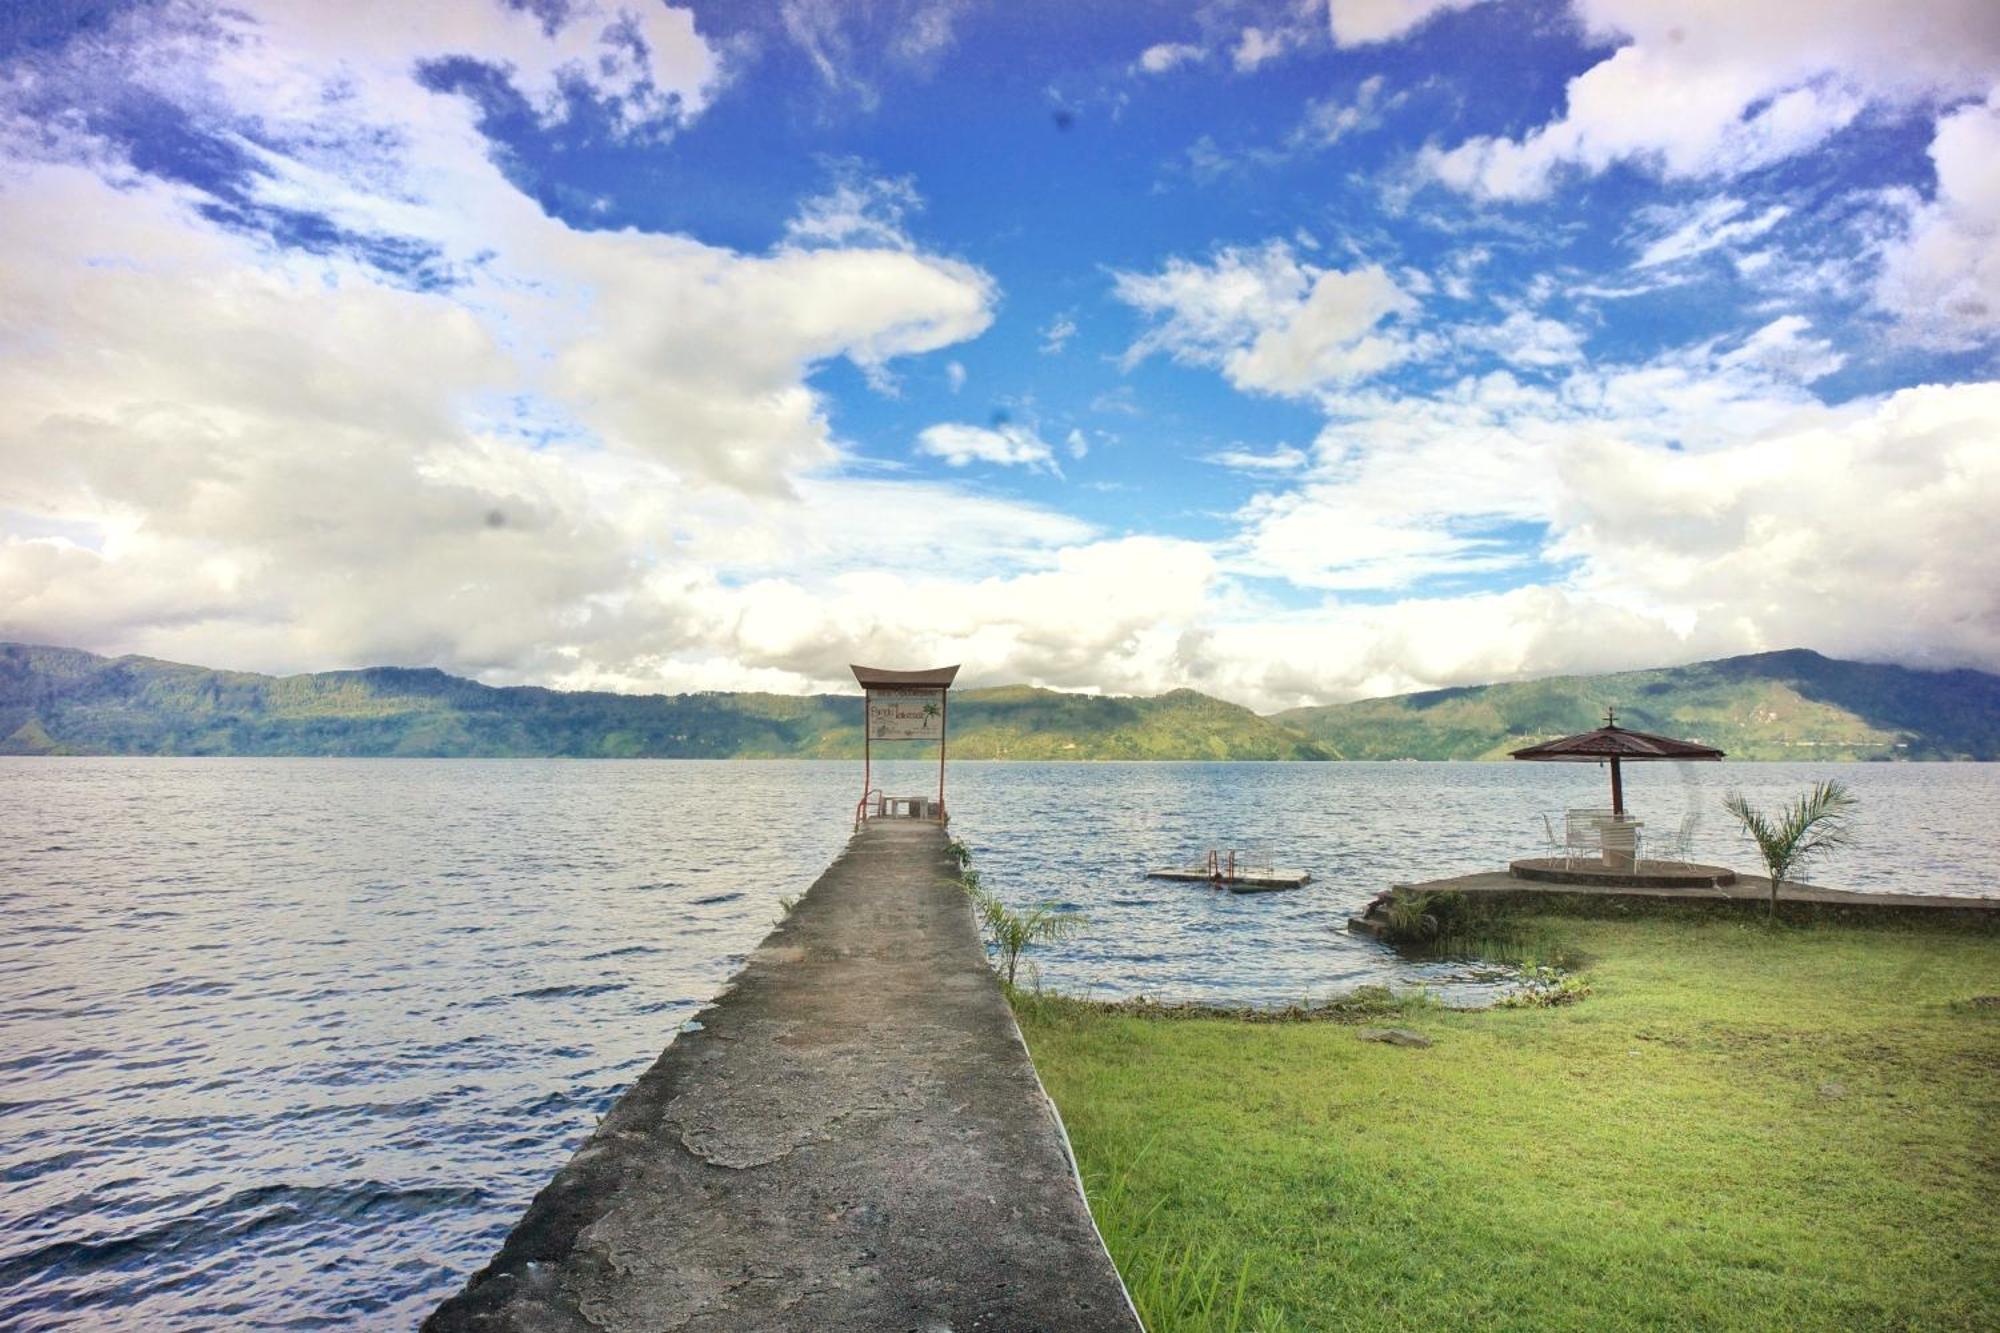
POLYGON ((1258 709, 2000 666, 2000 10, 68 4, 0 636, 1258 709))

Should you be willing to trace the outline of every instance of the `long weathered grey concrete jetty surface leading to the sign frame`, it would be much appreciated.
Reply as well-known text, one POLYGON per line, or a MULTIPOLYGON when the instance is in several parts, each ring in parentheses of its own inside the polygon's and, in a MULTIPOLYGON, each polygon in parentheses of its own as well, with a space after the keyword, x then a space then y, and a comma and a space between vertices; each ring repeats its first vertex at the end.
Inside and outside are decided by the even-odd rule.
POLYGON ((424 1329, 1134 1333, 944 845, 854 835, 424 1329))

